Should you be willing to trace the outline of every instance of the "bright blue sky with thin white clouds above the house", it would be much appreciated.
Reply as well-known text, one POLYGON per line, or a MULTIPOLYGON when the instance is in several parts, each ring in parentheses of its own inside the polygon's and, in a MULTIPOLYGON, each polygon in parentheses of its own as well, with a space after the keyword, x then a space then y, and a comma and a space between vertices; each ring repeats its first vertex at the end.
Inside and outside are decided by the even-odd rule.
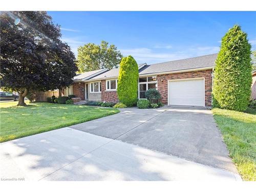
POLYGON ((218 53, 233 25, 248 34, 256 50, 256 12, 51 12, 62 40, 77 48, 108 41, 137 63, 153 64, 218 53))

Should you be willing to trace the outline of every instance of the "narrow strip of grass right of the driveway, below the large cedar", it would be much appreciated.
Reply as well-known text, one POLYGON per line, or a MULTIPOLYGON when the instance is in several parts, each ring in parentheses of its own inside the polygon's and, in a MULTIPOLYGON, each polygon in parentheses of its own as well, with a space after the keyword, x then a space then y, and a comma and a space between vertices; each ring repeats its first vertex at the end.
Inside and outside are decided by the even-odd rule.
POLYGON ((256 181, 256 112, 213 109, 229 155, 245 181, 256 181))

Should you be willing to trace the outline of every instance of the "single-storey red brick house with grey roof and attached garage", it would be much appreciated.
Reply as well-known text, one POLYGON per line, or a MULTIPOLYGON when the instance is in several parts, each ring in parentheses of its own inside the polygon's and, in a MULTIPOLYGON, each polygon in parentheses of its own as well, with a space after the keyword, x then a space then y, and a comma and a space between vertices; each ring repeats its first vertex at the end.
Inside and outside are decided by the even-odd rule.
MULTIPOLYGON (((211 106, 212 72, 217 54, 147 65, 139 65, 138 98, 157 89, 168 105, 211 106)), ((96 70, 74 77, 64 94, 81 100, 118 102, 119 69, 96 70)))

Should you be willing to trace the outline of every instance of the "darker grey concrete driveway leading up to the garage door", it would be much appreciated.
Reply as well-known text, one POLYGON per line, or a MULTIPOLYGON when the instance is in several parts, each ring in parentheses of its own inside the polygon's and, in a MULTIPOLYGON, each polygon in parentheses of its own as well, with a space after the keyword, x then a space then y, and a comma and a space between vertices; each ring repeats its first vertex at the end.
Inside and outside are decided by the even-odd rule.
POLYGON ((70 127, 237 174, 212 113, 205 108, 127 108, 70 127))

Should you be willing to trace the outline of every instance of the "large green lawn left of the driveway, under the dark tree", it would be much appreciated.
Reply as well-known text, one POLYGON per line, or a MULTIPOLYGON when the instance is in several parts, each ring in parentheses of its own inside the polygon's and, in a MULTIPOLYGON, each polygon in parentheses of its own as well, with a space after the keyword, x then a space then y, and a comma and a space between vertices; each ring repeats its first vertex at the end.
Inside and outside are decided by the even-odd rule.
POLYGON ((119 113, 113 108, 87 105, 0 102, 0 142, 47 132, 119 113))

